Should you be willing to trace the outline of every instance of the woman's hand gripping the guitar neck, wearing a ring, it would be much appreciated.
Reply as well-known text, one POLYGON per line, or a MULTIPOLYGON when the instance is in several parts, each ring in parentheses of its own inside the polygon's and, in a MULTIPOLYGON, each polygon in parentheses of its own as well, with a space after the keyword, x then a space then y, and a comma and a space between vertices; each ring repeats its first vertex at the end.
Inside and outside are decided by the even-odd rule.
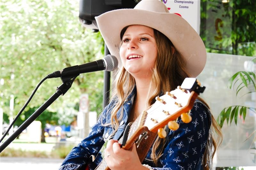
POLYGON ((109 140, 105 150, 105 160, 111 170, 148 170, 140 163, 136 151, 136 145, 133 144, 130 150, 120 147, 117 140, 109 140))

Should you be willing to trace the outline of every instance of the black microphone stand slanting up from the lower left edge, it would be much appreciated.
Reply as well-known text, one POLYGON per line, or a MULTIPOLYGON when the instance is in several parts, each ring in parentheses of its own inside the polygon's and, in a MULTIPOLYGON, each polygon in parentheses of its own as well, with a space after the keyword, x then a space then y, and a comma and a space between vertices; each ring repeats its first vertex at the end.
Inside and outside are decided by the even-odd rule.
MULTIPOLYGON (((79 74, 78 74, 79 75, 79 74)), ((49 107, 60 95, 64 95, 73 84, 78 75, 70 75, 61 77, 62 84, 57 87, 57 91, 41 106, 39 107, 20 127, 0 146, 0 153, 25 130, 44 110, 49 107)))

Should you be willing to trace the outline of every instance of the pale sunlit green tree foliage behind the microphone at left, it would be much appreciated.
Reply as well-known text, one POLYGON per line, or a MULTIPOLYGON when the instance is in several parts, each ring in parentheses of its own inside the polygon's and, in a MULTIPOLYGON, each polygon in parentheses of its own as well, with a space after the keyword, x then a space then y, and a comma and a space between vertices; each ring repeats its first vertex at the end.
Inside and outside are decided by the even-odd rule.
MULTIPOLYGON (((78 19, 78 1, 1 1, 1 107, 9 114, 10 95, 15 96, 14 115, 24 105, 33 89, 47 74, 62 68, 91 62, 103 57, 104 42, 100 33, 84 28, 78 19)), ((61 84, 47 79, 26 108, 43 104, 61 84)), ((103 72, 81 74, 71 89, 60 96, 47 112, 74 108, 81 93, 89 94, 90 110, 102 109, 103 72)), ((61 119, 56 124, 70 123, 61 119), (61 120, 61 121, 60 121, 61 120)), ((41 120, 52 117, 43 113, 41 120), (44 117, 44 118, 43 118, 44 117)), ((26 116, 21 115, 25 120, 26 116)))

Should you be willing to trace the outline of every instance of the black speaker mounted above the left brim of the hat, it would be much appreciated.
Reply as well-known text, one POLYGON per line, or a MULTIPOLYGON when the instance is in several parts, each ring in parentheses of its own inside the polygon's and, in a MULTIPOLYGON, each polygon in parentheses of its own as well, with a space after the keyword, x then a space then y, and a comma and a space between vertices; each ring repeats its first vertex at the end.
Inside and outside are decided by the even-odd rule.
MULTIPOLYGON (((140 1, 140 0, 139 0, 140 1)), ((94 32, 98 32, 94 17, 104 12, 122 9, 134 8, 138 0, 80 0, 79 2, 79 20, 83 26, 91 28, 94 32), (135 2, 136 1, 136 2, 135 2)))

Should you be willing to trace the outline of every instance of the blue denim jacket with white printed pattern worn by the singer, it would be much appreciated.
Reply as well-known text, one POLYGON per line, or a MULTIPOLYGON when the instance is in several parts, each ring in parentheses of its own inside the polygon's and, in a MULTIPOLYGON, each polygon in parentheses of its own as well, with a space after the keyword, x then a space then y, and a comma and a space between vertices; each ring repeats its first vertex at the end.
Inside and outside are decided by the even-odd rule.
MULTIPOLYGON (((123 107, 118 110, 117 116, 119 117, 123 110, 123 117, 114 136, 110 137, 113 132, 111 125, 102 126, 102 124, 110 123, 110 113, 115 106, 114 101, 111 101, 92 127, 89 136, 71 150, 59 170, 84 170, 87 164, 91 169, 95 169, 102 160, 99 151, 105 141, 108 139, 118 140, 122 137, 124 129, 129 123, 128 117, 135 94, 136 88, 125 100, 123 107), (93 162, 90 158, 91 155, 95 157, 97 155, 93 162)), ((192 116, 190 123, 183 123, 179 118, 177 122, 180 128, 175 131, 168 130, 165 149, 158 159, 157 166, 150 158, 152 147, 143 164, 148 164, 156 170, 203 170, 202 159, 211 125, 211 115, 209 109, 199 100, 195 101, 190 115, 192 116)))

